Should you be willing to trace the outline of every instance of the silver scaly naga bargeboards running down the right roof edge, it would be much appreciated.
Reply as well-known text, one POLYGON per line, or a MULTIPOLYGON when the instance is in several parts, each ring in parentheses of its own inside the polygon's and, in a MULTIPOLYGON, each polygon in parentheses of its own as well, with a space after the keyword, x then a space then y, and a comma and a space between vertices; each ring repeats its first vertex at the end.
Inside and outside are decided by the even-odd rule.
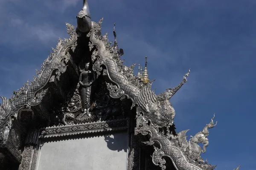
MULTIPOLYGON (((178 145, 179 141, 175 137, 177 135, 174 131, 175 127, 173 124, 175 110, 169 99, 187 82, 186 78, 189 76, 190 69, 177 87, 166 89, 166 92, 155 95, 154 91, 151 91, 153 81, 143 83, 135 76, 130 76, 131 72, 127 71, 129 69, 122 65, 123 61, 121 61, 120 56, 123 53, 119 50, 116 42, 115 27, 115 42, 111 47, 111 43, 108 42, 108 34, 104 36, 99 34, 101 32, 101 24, 102 20, 98 24, 93 23, 91 31, 87 34, 87 37, 90 37, 89 48, 93 51, 92 59, 95 61, 93 71, 96 71, 97 76, 99 76, 102 74, 103 67, 105 67, 106 71, 103 71, 103 74, 108 77, 109 82, 107 85, 111 97, 122 99, 122 96, 125 95, 133 101, 132 107, 137 105, 136 134, 149 134, 151 138, 146 143, 153 145, 157 142, 160 145, 160 147, 155 147, 152 157, 153 163, 156 165, 159 164, 162 169, 165 169, 164 164, 166 161, 162 159, 162 156, 167 156, 173 161, 173 164, 175 164, 178 170, 214 169, 215 167, 207 164, 207 161, 199 160, 198 156, 202 152, 201 149, 199 152, 194 152, 197 156, 190 159, 189 156, 183 153, 182 148, 178 145), (119 91, 120 93, 117 95, 116 92, 119 91)), ((207 128, 212 127, 209 126, 207 128)), ((206 143, 203 150, 205 152, 205 147, 207 146, 205 134, 202 132, 194 136, 189 142, 189 150, 197 151, 198 148, 195 144, 198 146, 198 143, 196 142, 203 142, 206 143), (199 139, 202 140, 200 141, 199 139)))

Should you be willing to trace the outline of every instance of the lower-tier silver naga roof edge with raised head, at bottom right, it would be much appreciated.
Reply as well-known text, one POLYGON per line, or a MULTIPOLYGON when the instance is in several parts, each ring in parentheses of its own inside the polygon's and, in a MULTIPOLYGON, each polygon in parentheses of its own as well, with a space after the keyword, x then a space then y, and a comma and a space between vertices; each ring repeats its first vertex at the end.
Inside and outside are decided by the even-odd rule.
POLYGON ((163 136, 159 134, 154 128, 154 125, 144 125, 137 128, 137 133, 143 135, 149 135, 150 140, 144 142, 145 144, 155 145, 154 153, 152 156, 152 161, 155 165, 159 164, 163 170, 166 169, 166 161, 162 158, 163 156, 169 157, 172 159, 173 164, 177 167, 178 170, 210 170, 214 169, 216 166, 207 164, 207 161, 201 159, 201 152, 205 152, 205 148, 208 146, 209 142, 206 138, 209 134, 208 128, 215 127, 216 124, 212 121, 204 127, 202 132, 197 133, 193 136, 189 142, 186 141, 186 132, 188 130, 183 130, 178 133, 177 136, 172 135, 163 136), (201 150, 201 147, 198 143, 204 143, 204 150, 201 150))

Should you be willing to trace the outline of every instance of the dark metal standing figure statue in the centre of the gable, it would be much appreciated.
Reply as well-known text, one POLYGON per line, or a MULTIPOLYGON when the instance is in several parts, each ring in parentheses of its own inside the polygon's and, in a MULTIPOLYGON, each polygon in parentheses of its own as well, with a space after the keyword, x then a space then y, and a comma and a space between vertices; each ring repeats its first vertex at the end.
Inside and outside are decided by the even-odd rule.
POLYGON ((81 70, 81 74, 79 76, 79 90, 82 101, 82 111, 83 113, 80 115, 80 118, 87 114, 91 116, 90 107, 91 107, 91 91, 92 91, 92 83, 94 82, 95 74, 89 70, 90 63, 85 63, 84 71, 81 70))

